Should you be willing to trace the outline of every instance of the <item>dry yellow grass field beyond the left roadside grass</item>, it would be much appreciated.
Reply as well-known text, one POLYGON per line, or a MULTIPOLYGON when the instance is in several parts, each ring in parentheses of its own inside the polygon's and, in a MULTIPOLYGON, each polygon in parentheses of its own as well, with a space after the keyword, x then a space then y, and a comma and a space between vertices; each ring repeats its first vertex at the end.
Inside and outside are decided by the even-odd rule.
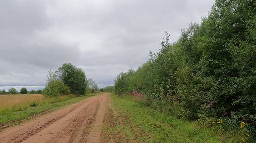
POLYGON ((20 104, 29 104, 41 99, 43 99, 42 94, 0 95, 0 110, 8 107, 15 107, 20 104))

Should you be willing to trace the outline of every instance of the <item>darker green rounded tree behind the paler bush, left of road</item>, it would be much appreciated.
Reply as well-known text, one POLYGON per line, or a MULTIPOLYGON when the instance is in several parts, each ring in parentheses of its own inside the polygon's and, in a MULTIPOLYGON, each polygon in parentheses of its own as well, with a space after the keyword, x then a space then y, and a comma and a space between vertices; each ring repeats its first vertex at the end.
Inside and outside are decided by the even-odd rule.
POLYGON ((76 68, 70 63, 64 63, 62 67, 56 71, 60 80, 70 88, 74 95, 85 94, 87 80, 85 73, 80 68, 76 68))

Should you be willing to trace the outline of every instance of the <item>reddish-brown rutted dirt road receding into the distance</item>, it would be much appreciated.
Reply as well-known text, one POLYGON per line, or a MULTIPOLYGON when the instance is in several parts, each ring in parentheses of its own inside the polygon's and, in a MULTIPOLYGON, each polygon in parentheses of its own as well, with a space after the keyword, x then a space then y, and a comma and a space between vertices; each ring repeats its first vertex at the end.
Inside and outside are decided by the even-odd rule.
POLYGON ((0 143, 99 143, 109 104, 104 93, 0 131, 0 143))

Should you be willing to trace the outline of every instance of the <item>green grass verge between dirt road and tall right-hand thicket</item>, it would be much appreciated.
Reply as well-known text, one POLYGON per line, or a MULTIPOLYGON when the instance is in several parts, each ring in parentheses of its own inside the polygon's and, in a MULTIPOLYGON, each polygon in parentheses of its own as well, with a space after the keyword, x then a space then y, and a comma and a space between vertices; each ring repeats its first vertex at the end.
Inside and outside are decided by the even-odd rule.
POLYGON ((240 143, 217 128, 202 128, 132 100, 111 94, 103 141, 130 143, 240 143), (111 119, 112 117, 112 119, 111 119), (115 141, 117 140, 117 141, 115 141))

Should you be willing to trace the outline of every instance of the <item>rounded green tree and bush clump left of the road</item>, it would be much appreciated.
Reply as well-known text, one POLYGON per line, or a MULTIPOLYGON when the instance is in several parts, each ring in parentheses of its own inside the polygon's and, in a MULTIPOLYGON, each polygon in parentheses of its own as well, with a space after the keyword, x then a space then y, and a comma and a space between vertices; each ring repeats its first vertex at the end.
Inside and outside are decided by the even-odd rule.
POLYGON ((46 96, 84 95, 87 87, 85 73, 70 63, 64 63, 57 71, 49 71, 43 94, 46 96))

